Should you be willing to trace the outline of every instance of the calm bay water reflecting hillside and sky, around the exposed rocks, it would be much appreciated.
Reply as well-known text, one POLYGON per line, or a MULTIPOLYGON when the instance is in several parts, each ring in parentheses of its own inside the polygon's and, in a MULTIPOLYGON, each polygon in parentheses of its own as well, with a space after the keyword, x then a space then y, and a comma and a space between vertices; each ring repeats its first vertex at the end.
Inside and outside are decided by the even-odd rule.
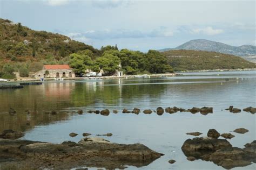
MULTIPOLYGON (((255 94, 256 71, 184 73, 158 79, 44 82, 41 86, 0 90, 0 131, 21 130, 25 131, 23 139, 52 143, 79 141, 83 132, 113 133, 112 137, 105 138, 116 143, 142 143, 165 154, 140 169, 223 169, 212 162, 186 160, 181 146, 193 136, 185 133, 199 131, 206 136, 208 129, 224 133, 246 128, 250 132, 234 133, 235 138, 229 140, 233 146, 243 147, 256 139, 255 115, 244 111, 232 114, 221 109, 230 105, 241 109, 256 107, 255 94), (156 110, 157 107, 173 106, 185 109, 213 107, 213 114, 122 114, 123 108, 156 110), (8 114, 10 107, 17 111, 15 116, 8 114), (30 115, 26 114, 27 109, 31 110, 30 115), (117 109, 119 113, 111 113, 109 116, 72 113, 78 109, 83 109, 84 112, 117 109), (44 114, 44 111, 50 110, 62 112, 55 116, 44 114), (70 132, 79 135, 71 138, 70 132), (171 165, 168 162, 170 159, 177 162, 171 165)), ((252 164, 234 169, 255 168, 255 164, 252 164)), ((128 169, 138 168, 130 166, 128 169)))

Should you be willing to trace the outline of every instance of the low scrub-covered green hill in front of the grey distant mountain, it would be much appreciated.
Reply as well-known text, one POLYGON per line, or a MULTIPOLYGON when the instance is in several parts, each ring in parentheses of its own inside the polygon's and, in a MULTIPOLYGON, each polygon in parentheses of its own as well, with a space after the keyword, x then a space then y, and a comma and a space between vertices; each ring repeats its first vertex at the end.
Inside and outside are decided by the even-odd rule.
POLYGON ((256 64, 230 54, 194 50, 163 52, 174 71, 256 68, 256 64))

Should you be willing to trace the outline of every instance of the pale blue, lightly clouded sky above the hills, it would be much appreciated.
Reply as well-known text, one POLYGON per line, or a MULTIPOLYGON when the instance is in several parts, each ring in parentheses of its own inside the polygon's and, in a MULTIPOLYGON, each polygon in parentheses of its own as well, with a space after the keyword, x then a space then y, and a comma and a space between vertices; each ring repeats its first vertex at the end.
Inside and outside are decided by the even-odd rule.
POLYGON ((256 44, 256 1, 0 0, 0 18, 100 48, 146 52, 192 39, 256 44))

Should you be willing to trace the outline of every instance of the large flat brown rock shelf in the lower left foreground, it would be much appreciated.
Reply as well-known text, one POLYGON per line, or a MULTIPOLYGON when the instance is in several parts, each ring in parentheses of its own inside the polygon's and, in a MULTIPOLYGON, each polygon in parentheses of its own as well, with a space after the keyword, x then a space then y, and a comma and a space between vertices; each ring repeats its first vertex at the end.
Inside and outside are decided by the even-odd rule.
MULTIPOLYGON (((69 169, 74 167, 125 168, 142 167, 161 157, 143 144, 117 144, 103 138, 83 138, 78 143, 62 144, 30 140, 0 139, 1 166, 69 169)), ((1 169, 1 167, 0 167, 1 169)))

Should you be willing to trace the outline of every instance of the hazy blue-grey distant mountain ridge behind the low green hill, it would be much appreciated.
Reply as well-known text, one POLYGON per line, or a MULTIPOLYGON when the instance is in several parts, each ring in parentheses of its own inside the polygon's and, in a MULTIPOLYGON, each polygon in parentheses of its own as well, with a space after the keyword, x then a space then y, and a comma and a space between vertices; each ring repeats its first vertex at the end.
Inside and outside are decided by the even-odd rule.
POLYGON ((172 49, 192 49, 201 51, 219 52, 224 54, 232 54, 237 56, 256 55, 256 46, 242 45, 239 47, 230 46, 221 42, 215 42, 205 39, 197 39, 188 41, 176 48, 160 49, 160 52, 169 51, 172 49))

